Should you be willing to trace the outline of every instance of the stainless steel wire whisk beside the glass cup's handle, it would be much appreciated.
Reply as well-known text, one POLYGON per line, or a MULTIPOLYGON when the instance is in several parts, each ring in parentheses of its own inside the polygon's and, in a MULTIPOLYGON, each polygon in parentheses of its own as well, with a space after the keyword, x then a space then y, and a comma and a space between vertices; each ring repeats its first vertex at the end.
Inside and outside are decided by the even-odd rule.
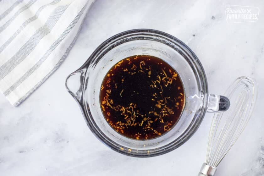
POLYGON ((245 129, 256 102, 257 84, 249 77, 239 77, 225 93, 230 100, 226 112, 215 113, 208 139, 206 162, 198 176, 213 176, 216 167, 245 129))

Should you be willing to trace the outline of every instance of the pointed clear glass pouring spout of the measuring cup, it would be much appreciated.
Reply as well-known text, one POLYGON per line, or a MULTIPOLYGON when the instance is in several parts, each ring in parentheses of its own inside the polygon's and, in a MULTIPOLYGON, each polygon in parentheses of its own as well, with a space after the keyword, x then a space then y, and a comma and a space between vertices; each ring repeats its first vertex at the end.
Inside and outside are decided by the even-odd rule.
POLYGON ((79 69, 66 78, 65 86, 74 99, 82 103, 82 92, 84 90, 84 77, 86 69, 79 69))

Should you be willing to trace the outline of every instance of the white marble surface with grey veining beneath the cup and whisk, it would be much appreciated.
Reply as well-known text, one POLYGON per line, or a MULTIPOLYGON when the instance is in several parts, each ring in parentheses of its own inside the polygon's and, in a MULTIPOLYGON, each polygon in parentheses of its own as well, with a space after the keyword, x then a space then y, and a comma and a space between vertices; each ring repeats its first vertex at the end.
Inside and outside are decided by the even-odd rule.
POLYGON ((223 94, 242 75, 257 80, 256 109, 216 176, 241 175, 255 163, 259 167, 247 175, 264 175, 260 160, 264 136, 263 10, 262 0, 97 0, 69 56, 40 88, 19 107, 11 106, 0 95, 0 175, 198 174, 205 160, 212 114, 206 114, 197 132, 178 149, 152 158, 127 157, 96 139, 65 89, 66 76, 79 68, 99 44, 135 28, 162 30, 186 43, 203 64, 211 93, 223 94), (226 4, 259 7, 258 21, 227 23, 226 4))

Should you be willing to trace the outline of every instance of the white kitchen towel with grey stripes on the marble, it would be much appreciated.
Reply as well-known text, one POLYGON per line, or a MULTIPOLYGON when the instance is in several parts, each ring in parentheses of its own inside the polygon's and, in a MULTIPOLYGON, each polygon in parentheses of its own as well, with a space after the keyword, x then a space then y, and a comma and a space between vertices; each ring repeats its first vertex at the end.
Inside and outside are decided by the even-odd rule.
POLYGON ((94 0, 0 0, 0 91, 18 106, 66 58, 94 0))

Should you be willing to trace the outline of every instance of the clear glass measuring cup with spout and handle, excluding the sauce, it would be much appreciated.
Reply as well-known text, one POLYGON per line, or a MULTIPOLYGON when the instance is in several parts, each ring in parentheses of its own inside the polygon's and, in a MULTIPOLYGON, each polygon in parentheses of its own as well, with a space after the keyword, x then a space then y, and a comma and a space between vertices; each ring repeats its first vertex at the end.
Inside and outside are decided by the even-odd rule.
POLYGON ((157 30, 136 29, 104 41, 88 60, 70 74, 66 88, 79 103, 88 127, 104 144, 122 154, 152 157, 181 146, 197 130, 206 112, 225 111, 227 97, 208 93, 206 75, 199 59, 179 39, 157 30), (134 55, 150 55, 169 63, 183 82, 185 106, 178 123, 162 136, 135 140, 117 133, 100 108, 100 88, 107 71, 118 61, 134 55))

